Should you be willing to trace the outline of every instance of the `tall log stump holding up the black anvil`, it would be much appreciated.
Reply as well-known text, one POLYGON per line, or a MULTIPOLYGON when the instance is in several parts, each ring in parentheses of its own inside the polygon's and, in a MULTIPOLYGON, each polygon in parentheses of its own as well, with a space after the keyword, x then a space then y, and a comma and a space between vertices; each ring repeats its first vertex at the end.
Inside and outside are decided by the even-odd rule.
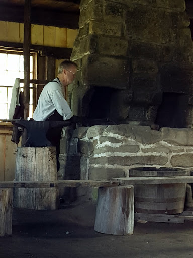
MULTIPOLYGON (((57 180, 55 147, 19 147, 16 181, 57 180)), ((59 206, 57 188, 16 188, 14 206, 36 210, 55 210, 59 206)))

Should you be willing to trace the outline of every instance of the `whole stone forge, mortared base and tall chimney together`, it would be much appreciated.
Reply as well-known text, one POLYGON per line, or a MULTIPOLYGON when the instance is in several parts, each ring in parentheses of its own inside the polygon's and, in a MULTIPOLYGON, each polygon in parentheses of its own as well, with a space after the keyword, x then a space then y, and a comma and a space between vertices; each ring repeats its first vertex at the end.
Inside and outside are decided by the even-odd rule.
POLYGON ((63 132, 59 178, 127 177, 139 166, 193 168, 188 26, 184 0, 81 1, 71 55, 79 70, 69 102, 95 126, 63 132))

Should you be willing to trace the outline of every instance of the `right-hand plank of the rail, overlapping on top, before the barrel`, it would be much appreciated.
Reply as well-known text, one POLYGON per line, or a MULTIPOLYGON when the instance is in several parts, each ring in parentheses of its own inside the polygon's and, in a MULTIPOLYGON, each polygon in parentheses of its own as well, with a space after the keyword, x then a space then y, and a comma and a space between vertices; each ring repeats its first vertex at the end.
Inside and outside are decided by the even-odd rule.
POLYGON ((113 178, 120 185, 193 183, 193 176, 128 177, 113 178))

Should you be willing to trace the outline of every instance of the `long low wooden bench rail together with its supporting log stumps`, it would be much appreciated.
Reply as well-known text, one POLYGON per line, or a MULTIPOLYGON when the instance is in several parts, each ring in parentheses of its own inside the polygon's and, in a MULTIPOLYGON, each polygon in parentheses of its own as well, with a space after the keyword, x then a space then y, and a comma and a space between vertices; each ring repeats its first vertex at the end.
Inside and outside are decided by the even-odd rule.
POLYGON ((12 188, 99 187, 98 207, 96 209, 94 229, 99 232, 103 229, 106 231, 103 233, 128 235, 133 234, 133 185, 172 183, 193 183, 193 176, 130 177, 113 178, 112 180, 65 180, 52 182, 0 182, 0 236, 12 234, 12 188), (117 201, 115 200, 115 197, 117 198, 117 201), (107 213, 102 213, 101 207, 104 205, 109 212, 108 216, 105 215, 107 213), (122 209, 121 213, 120 209, 122 209), (104 223, 107 224, 107 221, 110 221, 111 223, 105 226, 104 223), (112 225, 114 225, 114 228, 112 225), (122 226, 121 230, 120 226, 122 226), (111 227, 112 230, 110 230, 111 227))

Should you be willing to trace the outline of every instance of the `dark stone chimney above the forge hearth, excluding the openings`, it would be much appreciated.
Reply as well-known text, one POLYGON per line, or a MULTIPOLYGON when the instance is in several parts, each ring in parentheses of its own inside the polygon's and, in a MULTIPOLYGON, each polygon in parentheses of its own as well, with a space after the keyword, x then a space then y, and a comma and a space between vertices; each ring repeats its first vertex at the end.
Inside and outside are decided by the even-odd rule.
POLYGON ((115 120, 153 123, 162 92, 180 92, 189 96, 186 124, 192 124, 188 25, 184 0, 82 0, 71 56, 79 71, 69 87, 75 115, 87 116, 86 97, 103 86, 119 89, 115 120))

